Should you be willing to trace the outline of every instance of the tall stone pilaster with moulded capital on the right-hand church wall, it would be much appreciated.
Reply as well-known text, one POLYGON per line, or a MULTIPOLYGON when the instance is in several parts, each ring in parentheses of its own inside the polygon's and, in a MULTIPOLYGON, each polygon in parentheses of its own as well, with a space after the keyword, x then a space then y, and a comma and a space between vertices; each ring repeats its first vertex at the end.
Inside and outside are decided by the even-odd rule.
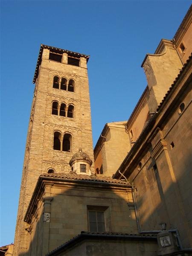
MULTIPOLYGON (((156 161, 165 204, 165 212, 167 212, 168 218, 166 220, 166 214, 162 214, 162 218, 163 216, 165 218, 162 219, 162 222, 167 223, 168 229, 178 228, 180 232, 182 230, 189 230, 188 224, 186 223, 186 216, 183 210, 184 208, 177 178, 175 176, 176 170, 172 166, 167 150, 167 142, 164 140, 163 133, 160 129, 157 129, 155 132, 155 136, 151 140, 151 144, 153 147, 151 157, 156 161), (178 219, 180 219, 179 223, 178 219)), ((184 233, 183 236, 185 236, 184 233)), ((189 234, 187 236, 190 237, 189 234)))

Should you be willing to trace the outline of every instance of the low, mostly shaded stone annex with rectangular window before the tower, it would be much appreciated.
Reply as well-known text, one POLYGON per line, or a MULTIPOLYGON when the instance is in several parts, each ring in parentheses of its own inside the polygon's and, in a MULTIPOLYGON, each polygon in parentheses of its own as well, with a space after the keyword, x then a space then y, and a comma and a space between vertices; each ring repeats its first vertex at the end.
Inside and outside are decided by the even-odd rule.
POLYGON ((39 196, 35 196, 38 206, 34 204, 26 215, 31 243, 28 252, 20 256, 44 256, 81 231, 86 232, 86 236, 80 237, 86 239, 70 241, 71 254, 66 250, 52 255, 156 254, 156 237, 138 234, 129 183, 79 182, 53 176, 41 176, 41 186, 38 180, 39 196), (41 197, 39 201, 38 197, 41 197))

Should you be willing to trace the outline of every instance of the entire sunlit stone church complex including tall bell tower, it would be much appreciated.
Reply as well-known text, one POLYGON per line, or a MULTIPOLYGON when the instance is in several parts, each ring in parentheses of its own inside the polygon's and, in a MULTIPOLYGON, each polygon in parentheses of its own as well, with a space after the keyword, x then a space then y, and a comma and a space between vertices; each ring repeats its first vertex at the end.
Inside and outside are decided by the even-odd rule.
POLYGON ((192 255, 192 7, 93 151, 89 55, 41 44, 13 256, 192 255))

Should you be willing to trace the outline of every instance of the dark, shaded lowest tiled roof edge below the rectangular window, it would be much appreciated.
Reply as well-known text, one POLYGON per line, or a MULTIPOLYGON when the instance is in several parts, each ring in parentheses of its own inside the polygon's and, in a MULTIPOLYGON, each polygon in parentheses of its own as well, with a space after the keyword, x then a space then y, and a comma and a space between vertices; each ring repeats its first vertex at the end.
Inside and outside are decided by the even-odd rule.
POLYGON ((53 256, 56 255, 59 251, 67 249, 67 247, 73 246, 76 242, 82 241, 84 239, 115 239, 116 241, 121 239, 145 239, 145 240, 156 240, 156 235, 150 234, 131 234, 131 233, 119 233, 119 232, 109 232, 109 233, 91 233, 91 232, 84 232, 81 231, 81 234, 73 237, 66 243, 62 244, 61 246, 57 247, 55 250, 52 250, 46 256, 53 256))

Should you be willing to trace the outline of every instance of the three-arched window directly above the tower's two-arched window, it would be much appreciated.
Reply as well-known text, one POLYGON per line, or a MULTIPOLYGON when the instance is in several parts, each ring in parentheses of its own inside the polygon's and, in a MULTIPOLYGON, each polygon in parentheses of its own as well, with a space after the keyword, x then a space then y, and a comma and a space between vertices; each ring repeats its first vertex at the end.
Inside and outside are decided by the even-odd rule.
POLYGON ((57 101, 52 102, 52 115, 74 118, 74 110, 75 108, 72 104, 61 103, 60 105, 57 101))

